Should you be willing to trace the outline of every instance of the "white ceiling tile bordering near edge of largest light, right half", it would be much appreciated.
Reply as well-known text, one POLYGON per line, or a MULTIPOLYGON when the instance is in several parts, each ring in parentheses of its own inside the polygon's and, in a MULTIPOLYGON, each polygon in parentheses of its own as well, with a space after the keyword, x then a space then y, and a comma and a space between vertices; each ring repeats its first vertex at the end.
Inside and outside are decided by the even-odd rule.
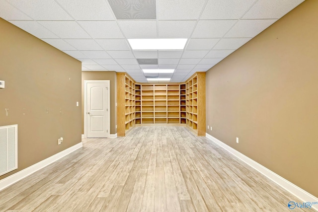
POLYGON ((194 20, 159 21, 159 38, 189 38, 194 20))

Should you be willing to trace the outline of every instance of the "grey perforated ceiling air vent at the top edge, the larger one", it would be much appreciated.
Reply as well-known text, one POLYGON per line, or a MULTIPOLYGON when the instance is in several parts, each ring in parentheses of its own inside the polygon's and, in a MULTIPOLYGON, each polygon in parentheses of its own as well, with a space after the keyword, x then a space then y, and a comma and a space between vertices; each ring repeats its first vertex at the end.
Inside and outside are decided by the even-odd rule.
POLYGON ((108 0, 117 19, 156 19, 156 0, 108 0))

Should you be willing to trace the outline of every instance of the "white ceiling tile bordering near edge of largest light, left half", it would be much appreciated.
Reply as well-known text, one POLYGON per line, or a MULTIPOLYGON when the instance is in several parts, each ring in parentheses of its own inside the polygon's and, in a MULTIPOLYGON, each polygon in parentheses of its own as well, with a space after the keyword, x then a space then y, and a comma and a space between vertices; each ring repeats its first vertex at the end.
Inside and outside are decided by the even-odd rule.
POLYGON ((125 20, 118 21, 126 38, 157 38, 156 20, 125 20))

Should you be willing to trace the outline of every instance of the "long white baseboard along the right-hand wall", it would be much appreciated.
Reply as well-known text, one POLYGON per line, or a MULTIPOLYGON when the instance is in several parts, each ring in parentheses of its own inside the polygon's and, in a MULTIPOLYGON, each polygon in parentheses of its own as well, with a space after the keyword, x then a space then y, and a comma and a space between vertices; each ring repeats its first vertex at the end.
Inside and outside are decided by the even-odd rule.
MULTIPOLYGON (((265 175, 267 178, 272 180, 274 183, 278 184, 282 188, 284 188, 286 191, 290 192, 291 194, 295 195, 298 199, 301 201, 306 202, 318 202, 318 198, 313 196, 312 194, 308 193, 307 191, 299 188, 295 184, 289 182, 285 178, 279 176, 278 174, 272 172, 268 168, 262 166, 261 164, 255 162, 254 160, 250 159, 249 157, 245 156, 244 154, 240 153, 236 149, 232 148, 231 146, 225 144, 224 142, 214 138, 213 136, 206 133, 206 138, 210 139, 217 145, 223 147, 225 150, 232 153, 234 156, 238 157, 240 160, 245 162, 247 165, 251 166, 261 174, 265 175)), ((293 201, 293 200, 291 200, 293 201)), ((286 206, 287 207, 287 206, 286 206)), ((312 205, 312 209, 315 209, 318 211, 318 205, 312 205)))

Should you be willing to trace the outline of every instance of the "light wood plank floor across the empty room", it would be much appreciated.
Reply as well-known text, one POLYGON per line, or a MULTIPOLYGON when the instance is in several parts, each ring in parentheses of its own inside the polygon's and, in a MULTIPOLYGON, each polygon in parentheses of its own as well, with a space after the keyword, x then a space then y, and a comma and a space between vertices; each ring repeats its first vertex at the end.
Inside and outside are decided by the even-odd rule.
POLYGON ((283 212, 289 201, 301 202, 205 137, 147 126, 84 139, 82 149, 1 191, 0 211, 283 212))

